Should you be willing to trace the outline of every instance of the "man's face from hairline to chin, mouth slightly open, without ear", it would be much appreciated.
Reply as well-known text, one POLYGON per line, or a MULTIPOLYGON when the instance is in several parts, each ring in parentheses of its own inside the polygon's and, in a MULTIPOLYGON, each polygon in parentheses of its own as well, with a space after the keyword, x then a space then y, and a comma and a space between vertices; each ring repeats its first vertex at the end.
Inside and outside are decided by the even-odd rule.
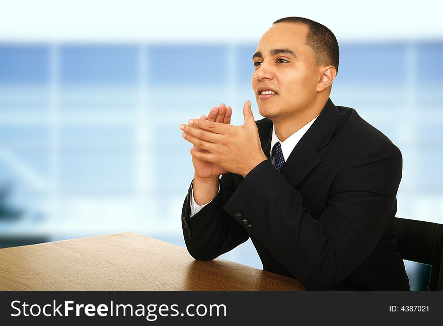
POLYGON ((321 73, 314 50, 305 44, 307 34, 306 25, 278 23, 260 39, 252 88, 263 117, 290 118, 312 105, 321 73))

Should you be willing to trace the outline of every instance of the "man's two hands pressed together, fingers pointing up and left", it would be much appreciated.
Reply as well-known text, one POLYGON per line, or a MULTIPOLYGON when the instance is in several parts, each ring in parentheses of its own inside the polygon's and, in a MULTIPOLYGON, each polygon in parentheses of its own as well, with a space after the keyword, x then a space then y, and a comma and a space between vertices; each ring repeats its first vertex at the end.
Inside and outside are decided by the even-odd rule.
POLYGON ((189 125, 180 125, 180 129, 183 130, 182 137, 194 145, 189 151, 195 173, 202 179, 218 179, 219 175, 226 172, 245 177, 260 162, 267 159, 261 148, 251 102, 246 101, 243 106, 245 123, 241 126, 229 124, 230 107, 226 108, 222 104, 221 110, 222 118, 225 116, 221 121, 214 118, 213 108, 207 118, 203 115, 200 119, 189 120, 189 125))

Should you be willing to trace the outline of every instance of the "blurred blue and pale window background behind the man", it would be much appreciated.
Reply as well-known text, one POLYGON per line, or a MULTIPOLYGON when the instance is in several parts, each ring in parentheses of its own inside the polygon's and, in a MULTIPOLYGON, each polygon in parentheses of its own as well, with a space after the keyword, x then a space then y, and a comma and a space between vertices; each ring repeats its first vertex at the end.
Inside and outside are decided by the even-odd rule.
MULTIPOLYGON (((397 216, 443 223, 443 42, 340 45, 331 99, 401 149, 397 216)), ((247 99, 259 119, 255 47, 0 43, 0 245, 130 230, 184 246, 193 169, 178 126, 221 102, 242 124, 247 99)), ((223 257, 262 268, 250 241, 223 257)), ((407 264, 419 289, 423 267, 407 264)))

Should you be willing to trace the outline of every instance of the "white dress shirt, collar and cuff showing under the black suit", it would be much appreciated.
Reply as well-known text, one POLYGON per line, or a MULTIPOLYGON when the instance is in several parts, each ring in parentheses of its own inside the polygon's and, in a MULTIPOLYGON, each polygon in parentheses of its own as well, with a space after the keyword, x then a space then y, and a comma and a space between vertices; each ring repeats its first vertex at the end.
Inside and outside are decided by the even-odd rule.
MULTIPOLYGON (((318 118, 318 116, 315 117, 314 119, 312 119, 310 122, 308 122, 306 125, 304 125, 299 130, 294 132, 292 135, 287 137, 284 141, 280 141, 280 139, 278 139, 278 136, 275 133, 275 128, 272 127, 271 161, 274 166, 275 166, 275 159, 272 155, 272 148, 274 147, 274 145, 277 142, 280 142, 281 151, 283 152, 284 161, 287 161, 292 150, 296 147, 296 145, 299 143, 300 139, 302 139, 303 135, 308 131, 309 127, 311 127, 311 125, 314 123, 315 119, 317 119, 317 118, 318 118)), ((218 191, 220 191, 220 185, 218 185, 218 191)), ((204 206, 206 206, 209 203, 210 202, 203 204, 203 205, 198 205, 194 200, 194 189, 192 188, 192 185, 191 185, 191 205, 190 205, 191 206, 191 217, 194 216, 195 214, 197 214, 204 206)))

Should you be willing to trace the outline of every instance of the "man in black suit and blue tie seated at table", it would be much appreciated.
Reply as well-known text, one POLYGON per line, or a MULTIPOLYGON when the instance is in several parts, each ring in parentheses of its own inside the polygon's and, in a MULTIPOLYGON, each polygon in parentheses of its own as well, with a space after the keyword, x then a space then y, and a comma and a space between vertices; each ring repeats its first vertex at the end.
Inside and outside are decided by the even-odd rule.
POLYGON ((409 289, 393 226, 401 153, 329 99, 338 62, 328 28, 280 19, 253 56, 265 118, 255 122, 247 101, 242 126, 224 106, 180 126, 194 145, 182 225, 195 259, 251 237, 264 270, 306 289, 409 289))

